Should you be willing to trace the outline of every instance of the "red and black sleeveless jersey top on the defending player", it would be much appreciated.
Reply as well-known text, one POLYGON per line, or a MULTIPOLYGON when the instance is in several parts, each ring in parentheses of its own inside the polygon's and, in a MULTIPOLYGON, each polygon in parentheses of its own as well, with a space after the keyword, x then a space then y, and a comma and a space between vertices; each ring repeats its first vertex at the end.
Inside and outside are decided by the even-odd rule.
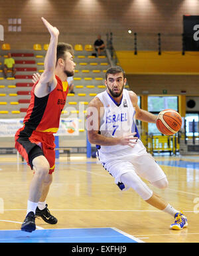
POLYGON ((57 132, 60 124, 60 115, 66 103, 68 82, 62 82, 56 76, 56 88, 48 95, 38 98, 34 95, 34 84, 31 90, 31 102, 23 123, 27 128, 38 132, 57 132))

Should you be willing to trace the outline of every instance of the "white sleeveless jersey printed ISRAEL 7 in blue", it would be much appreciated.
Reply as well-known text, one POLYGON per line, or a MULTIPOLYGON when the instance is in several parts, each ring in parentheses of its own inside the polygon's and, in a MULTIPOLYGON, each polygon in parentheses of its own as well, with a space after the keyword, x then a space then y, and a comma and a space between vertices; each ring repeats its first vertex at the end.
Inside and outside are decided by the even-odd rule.
MULTIPOLYGON (((96 97, 100 99, 104 107, 103 118, 100 123, 100 134, 106 137, 120 137, 131 132, 137 132, 135 125, 135 108, 131 102, 128 90, 123 90, 123 98, 118 105, 117 102, 105 90, 96 97)), ((123 150, 129 146, 97 146, 101 153, 111 153, 123 150)))

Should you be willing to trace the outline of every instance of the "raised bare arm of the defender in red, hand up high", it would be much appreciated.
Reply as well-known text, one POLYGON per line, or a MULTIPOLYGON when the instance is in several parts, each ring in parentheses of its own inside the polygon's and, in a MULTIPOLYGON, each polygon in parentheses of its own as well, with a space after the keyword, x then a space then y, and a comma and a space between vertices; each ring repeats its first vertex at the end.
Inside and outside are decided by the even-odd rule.
POLYGON ((43 17, 41 19, 50 33, 50 43, 44 59, 44 72, 40 76, 40 80, 34 89, 34 94, 38 97, 46 96, 56 87, 54 71, 56 66, 56 47, 59 35, 59 31, 56 27, 50 25, 50 23, 48 23, 48 21, 43 17))

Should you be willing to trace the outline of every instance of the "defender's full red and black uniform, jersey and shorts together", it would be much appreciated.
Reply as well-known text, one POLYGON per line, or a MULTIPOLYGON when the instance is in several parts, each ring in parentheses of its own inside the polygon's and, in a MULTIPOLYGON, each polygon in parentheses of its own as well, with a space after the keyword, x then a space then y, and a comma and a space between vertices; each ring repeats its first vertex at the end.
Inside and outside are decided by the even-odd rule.
POLYGON ((36 155, 45 156, 50 165, 49 174, 54 172, 55 144, 53 133, 58 131, 60 115, 66 103, 68 94, 68 82, 62 82, 56 76, 56 88, 48 95, 38 98, 34 95, 34 84, 31 90, 31 103, 24 118, 24 126, 17 130, 15 134, 15 148, 33 169, 33 154, 31 160, 29 156, 36 148, 36 155))

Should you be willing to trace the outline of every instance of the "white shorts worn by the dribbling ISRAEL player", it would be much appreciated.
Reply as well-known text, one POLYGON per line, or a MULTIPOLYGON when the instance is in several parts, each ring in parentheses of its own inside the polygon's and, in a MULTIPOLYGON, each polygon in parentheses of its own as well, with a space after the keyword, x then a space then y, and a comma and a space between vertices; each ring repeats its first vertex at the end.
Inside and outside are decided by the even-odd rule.
POLYGON ((147 153, 141 140, 137 140, 134 148, 129 147, 122 151, 103 154, 99 150, 99 159, 105 170, 115 178, 115 184, 120 183, 121 175, 127 172, 133 172, 151 184, 166 178, 153 156, 147 153))

